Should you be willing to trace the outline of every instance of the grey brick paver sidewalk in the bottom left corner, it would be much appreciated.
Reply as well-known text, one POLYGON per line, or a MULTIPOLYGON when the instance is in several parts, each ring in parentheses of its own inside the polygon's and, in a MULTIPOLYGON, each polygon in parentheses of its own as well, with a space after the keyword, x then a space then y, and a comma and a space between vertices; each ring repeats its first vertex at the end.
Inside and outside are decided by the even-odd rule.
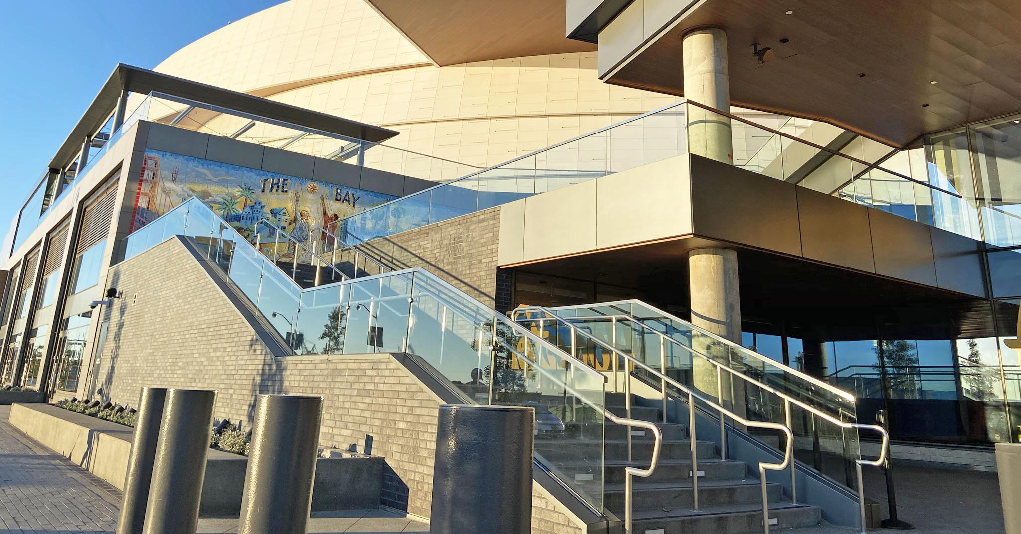
POLYGON ((112 533, 120 492, 0 416, 0 534, 112 533))

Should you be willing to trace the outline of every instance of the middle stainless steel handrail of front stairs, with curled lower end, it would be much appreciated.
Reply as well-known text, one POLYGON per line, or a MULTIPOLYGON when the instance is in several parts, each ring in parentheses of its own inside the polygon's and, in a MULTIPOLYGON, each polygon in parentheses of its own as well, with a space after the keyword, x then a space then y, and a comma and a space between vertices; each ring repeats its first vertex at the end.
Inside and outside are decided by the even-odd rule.
MULTIPOLYGON (((694 390, 692 390, 691 388, 689 388, 689 387, 681 384, 680 382, 677 382, 676 380, 668 377, 666 375, 666 371, 667 370, 666 370, 665 360, 661 359, 661 363, 664 365, 663 373, 661 373, 660 371, 657 371, 657 370, 654 370, 654 369, 646 366, 644 362, 638 360, 637 358, 635 358, 631 354, 628 354, 627 352, 623 352, 620 349, 618 349, 617 347, 611 346, 610 344, 607 344, 607 343, 603 342, 602 340, 596 338, 592 334, 589 334, 588 332, 585 332, 585 331, 579 329, 574 324, 572 324, 572 323, 570 323, 568 321, 565 321, 564 319, 560 318, 558 315, 556 315, 555 313, 553 313, 552 311, 550 311, 549 309, 547 309, 545 307, 542 307, 542 306, 529 306, 529 307, 525 307, 525 308, 518 308, 518 309, 516 309, 514 311, 514 313, 515 313, 515 315, 517 315, 519 311, 527 312, 527 311, 536 311, 536 310, 542 311, 544 313, 547 313, 550 317, 549 318, 526 318, 524 320, 518 320, 516 318, 516 321, 517 322, 521 322, 521 321, 542 321, 543 319, 547 319, 547 320, 554 320, 554 321, 560 321, 560 322, 565 323, 567 325, 567 327, 571 330, 571 332, 573 334, 581 335, 582 337, 589 339, 593 343, 595 343, 595 344, 599 345, 600 347, 609 350, 611 353, 613 353, 616 356, 616 358, 623 358, 626 361, 630 361, 630 362, 634 363, 635 366, 637 366, 637 367, 645 370, 645 372, 651 373, 653 376, 655 376, 657 378, 659 378, 660 381, 661 381, 661 385, 662 385, 661 387, 662 387, 662 392, 663 392, 663 395, 664 395, 664 402, 666 402, 666 396, 668 395, 666 384, 670 384, 673 387, 675 387, 675 388, 677 388, 677 389, 679 389, 679 390, 687 393, 687 395, 688 395, 688 401, 687 401, 688 402, 688 424, 689 424, 688 425, 688 437, 689 437, 689 440, 691 442, 691 488, 692 488, 692 502, 693 502, 693 505, 694 505, 694 509, 696 512, 698 511, 698 450, 697 450, 697 437, 696 437, 696 435, 697 435, 697 432, 696 432, 697 424, 696 424, 696 416, 695 416, 695 400, 696 399, 699 400, 699 401, 701 401, 703 404, 709 405, 711 408, 715 409, 716 411, 718 411, 720 414, 720 418, 721 418, 721 421, 720 421, 720 423, 721 423, 721 432, 725 432, 726 431, 726 428, 723 426, 723 423, 724 423, 723 422, 723 417, 724 416, 726 416, 727 418, 730 418, 731 420, 733 420, 733 421, 735 421, 735 422, 737 422, 737 423, 739 423, 741 425, 744 425, 745 427, 761 428, 761 429, 766 429, 766 430, 777 430, 777 431, 782 432, 784 434, 785 438, 786 438, 785 443, 784 443, 783 462, 780 463, 780 464, 772 464, 772 463, 768 463, 768 462, 760 462, 759 463, 760 483, 761 483, 761 487, 762 487, 762 496, 763 496, 763 532, 766 533, 766 534, 769 534, 769 500, 768 500, 768 494, 767 494, 767 491, 766 491, 766 471, 767 470, 769 470, 769 471, 783 471, 784 469, 786 469, 789 466, 790 470, 791 470, 791 473, 793 474, 793 471, 794 471, 794 462, 793 462, 794 433, 791 432, 789 426, 780 425, 779 423, 768 423, 768 422, 762 422, 762 421, 748 421, 748 420, 746 420, 746 419, 738 416, 737 414, 734 414, 733 411, 731 411, 731 410, 723 407, 723 405, 716 403, 712 399, 710 399, 710 398, 701 395, 700 393, 696 393, 694 390)), ((575 347, 574 336, 572 336, 571 345, 572 345, 572 348, 575 347)), ((712 361, 712 359, 710 359, 710 360, 712 361)), ((714 361, 714 363, 717 363, 717 362, 714 361)), ((628 367, 625 366, 625 369, 627 369, 627 368, 628 367)), ((727 371, 727 372, 732 373, 732 374, 736 373, 734 370, 732 370, 730 368, 724 368, 722 365, 719 365, 719 363, 717 363, 717 370, 718 370, 718 373, 719 373, 719 371, 727 371)), ((615 373, 616 373, 616 370, 615 370, 615 373)), ((626 381, 625 385, 628 385, 630 383, 630 378, 631 378, 630 375, 631 375, 631 372, 627 371, 627 373, 625 375, 625 381, 626 381)), ((717 376, 719 378, 719 374, 717 376)), ((741 375, 741 377, 743 377, 743 375, 741 375)), ((616 376, 615 376, 615 379, 614 379, 614 383, 615 383, 615 386, 616 386, 616 376)), ((719 380, 718 380, 717 381, 717 385, 719 387, 719 396, 718 396, 718 399, 720 400, 720 402, 723 402, 723 386, 722 386, 722 383, 719 382, 719 380)), ((625 395, 627 395, 628 397, 630 397, 630 388, 629 387, 628 387, 627 391, 625 392, 625 395)), ((626 407, 626 409, 628 409, 628 411, 629 411, 628 415, 630 416, 630 407, 631 407, 630 398, 626 399, 626 405, 625 405, 625 407, 626 407)), ((664 407, 666 407, 666 405, 664 407)), ((789 411, 789 404, 785 404, 785 409, 787 411, 789 411)), ((666 409, 664 409, 664 415, 666 415, 666 409)), ((726 443, 726 441, 721 442, 721 447, 725 447, 726 446, 724 443, 726 443)), ((630 436, 629 436, 629 440, 628 440, 628 447, 629 448, 630 448, 630 445, 631 445, 631 443, 630 443, 630 436)), ((726 456, 724 456, 724 459, 726 459, 726 456)), ((791 480, 793 480, 793 475, 791 475, 791 480)), ((630 495, 625 495, 625 501, 626 501, 626 503, 627 503, 628 499, 630 499, 630 495)), ((627 504, 629 505, 629 503, 627 503, 627 504)), ((630 532, 630 529, 629 529, 629 532, 630 532)))

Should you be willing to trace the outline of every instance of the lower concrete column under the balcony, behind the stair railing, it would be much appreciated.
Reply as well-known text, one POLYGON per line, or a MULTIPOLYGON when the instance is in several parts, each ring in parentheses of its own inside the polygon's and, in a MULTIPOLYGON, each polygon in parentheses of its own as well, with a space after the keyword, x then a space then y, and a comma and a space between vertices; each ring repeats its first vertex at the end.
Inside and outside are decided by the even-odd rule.
MULTIPOLYGON (((729 248, 699 248, 688 256, 691 287, 691 323, 724 339, 741 343, 741 294, 738 288, 737 251, 729 248)), ((694 348, 719 361, 730 359, 730 350, 709 336, 696 336, 694 348)), ((692 365, 694 386, 716 396, 716 367, 695 359, 692 365)), ((722 374, 724 407, 744 417, 744 388, 740 380, 722 374), (731 393, 731 383, 734 392, 731 393)))

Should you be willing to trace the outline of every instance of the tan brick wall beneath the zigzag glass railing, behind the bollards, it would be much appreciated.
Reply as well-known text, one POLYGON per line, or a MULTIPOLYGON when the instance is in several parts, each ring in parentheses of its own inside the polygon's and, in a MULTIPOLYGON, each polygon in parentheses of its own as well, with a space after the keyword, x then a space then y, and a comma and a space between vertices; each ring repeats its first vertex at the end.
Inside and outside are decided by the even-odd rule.
MULTIPOLYGON (((494 252, 495 254, 495 252, 494 252)), ((320 443, 386 457, 384 501, 429 517, 438 398, 388 354, 274 357, 177 239, 110 269, 124 291, 96 374, 103 396, 137 405, 142 386, 218 391, 216 419, 247 427, 258 393, 324 396, 320 443)), ((536 487, 533 532, 581 532, 536 487)))

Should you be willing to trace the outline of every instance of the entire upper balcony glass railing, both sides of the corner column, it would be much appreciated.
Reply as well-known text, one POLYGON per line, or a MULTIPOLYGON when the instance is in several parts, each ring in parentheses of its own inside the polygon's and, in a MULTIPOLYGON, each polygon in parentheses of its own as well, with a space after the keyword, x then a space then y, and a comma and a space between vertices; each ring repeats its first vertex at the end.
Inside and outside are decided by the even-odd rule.
POLYGON ((799 123, 777 131, 685 101, 367 209, 340 233, 349 242, 387 237, 687 153, 696 108, 701 123, 730 125, 733 146, 751 154, 737 166, 977 238, 978 208, 955 192, 800 140, 799 123))

